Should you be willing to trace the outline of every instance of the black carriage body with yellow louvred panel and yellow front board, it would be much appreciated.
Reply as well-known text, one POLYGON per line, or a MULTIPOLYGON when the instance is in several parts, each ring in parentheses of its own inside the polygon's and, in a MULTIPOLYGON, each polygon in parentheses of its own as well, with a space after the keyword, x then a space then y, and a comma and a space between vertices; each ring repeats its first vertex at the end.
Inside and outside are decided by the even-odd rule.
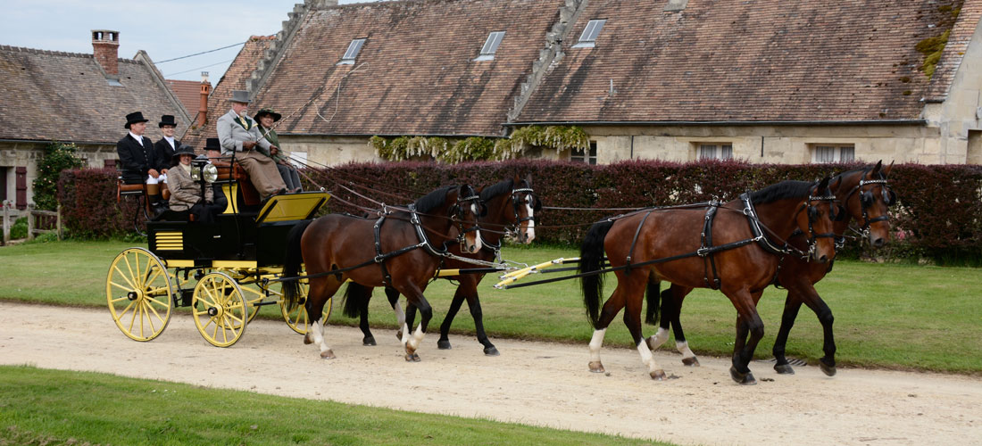
POLYGON ((147 222, 147 241, 157 257, 185 267, 190 261, 197 268, 216 261, 282 266, 290 229, 312 219, 328 198, 325 192, 277 196, 257 212, 221 214, 215 223, 147 222))

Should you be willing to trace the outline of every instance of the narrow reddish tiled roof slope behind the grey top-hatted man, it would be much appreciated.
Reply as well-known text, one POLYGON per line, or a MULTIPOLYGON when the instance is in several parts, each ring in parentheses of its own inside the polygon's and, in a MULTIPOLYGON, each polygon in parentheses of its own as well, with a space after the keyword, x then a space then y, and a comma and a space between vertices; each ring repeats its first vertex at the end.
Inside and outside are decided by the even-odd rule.
MULTIPOLYGON (((245 90, 246 80, 256 68, 259 59, 262 58, 266 49, 269 48, 273 36, 253 35, 246 40, 246 44, 239 50, 235 61, 225 71, 222 78, 215 84, 215 88, 208 95, 208 123, 202 128, 191 128, 181 142, 191 144, 192 147, 200 151, 204 147, 205 138, 217 138, 218 132, 215 129, 215 122, 232 109, 228 99, 232 97, 232 90, 245 90)), ((198 91, 200 94, 200 91, 198 91)), ((200 97, 198 97, 200 101, 200 97)), ((250 110, 255 107, 250 106, 250 110)), ((258 110, 258 108, 255 108, 258 110)), ((197 121, 197 106, 191 109, 194 121, 197 121)), ((181 133, 178 133, 181 134, 181 133)))

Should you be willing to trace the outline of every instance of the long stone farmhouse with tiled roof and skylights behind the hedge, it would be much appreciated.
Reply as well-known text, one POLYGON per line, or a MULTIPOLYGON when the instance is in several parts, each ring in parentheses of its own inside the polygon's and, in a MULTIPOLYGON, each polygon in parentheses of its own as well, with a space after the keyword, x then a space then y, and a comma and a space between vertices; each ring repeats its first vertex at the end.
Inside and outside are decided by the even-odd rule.
POLYGON ((306 0, 207 114, 247 89, 325 165, 378 160, 372 135, 530 124, 578 125, 590 148, 526 156, 586 163, 982 164, 980 16, 982 0, 306 0))

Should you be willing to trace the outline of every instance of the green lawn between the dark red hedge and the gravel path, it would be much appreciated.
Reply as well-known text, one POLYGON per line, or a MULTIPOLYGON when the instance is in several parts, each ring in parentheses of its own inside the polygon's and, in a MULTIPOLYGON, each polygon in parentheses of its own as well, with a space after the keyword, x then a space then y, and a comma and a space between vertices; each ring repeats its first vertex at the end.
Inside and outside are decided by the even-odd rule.
MULTIPOLYGON (((110 262, 132 244, 109 242, 33 243, 0 248, 0 298, 58 305, 104 307, 105 279, 110 262)), ((573 249, 550 247, 506 248, 510 260, 540 263, 576 257, 573 249)), ((531 275, 526 280, 551 277, 531 275)), ((606 292, 613 290, 611 276, 606 292)), ((488 275, 479 291, 485 327, 493 336, 546 339, 585 344, 592 329, 583 312, 578 283, 573 280, 513 290, 496 290, 488 275)), ((982 269, 926 267, 896 264, 837 262, 835 271, 817 289, 836 317, 837 360, 841 365, 912 369, 937 372, 982 373, 982 269)), ((454 285, 439 280, 426 291, 435 316, 430 331, 442 322, 454 285)), ((759 311, 766 334, 757 349, 770 358, 780 325, 786 291, 768 288, 759 311)), ((355 324, 341 316, 340 296, 332 322, 355 324)), ((107 310, 108 311, 108 310, 107 310)), ((381 290, 372 301, 373 326, 395 327, 392 310, 381 290)), ((182 314, 176 317, 185 317, 182 314)), ((277 308, 259 317, 280 318, 277 308)), ((627 328, 615 320, 607 345, 630 345, 627 328)), ((736 310, 721 293, 696 290, 685 299, 682 324, 689 345, 697 354, 729 356, 734 342, 736 310)), ((376 331, 381 328, 377 328, 376 331)), ((653 327, 645 327, 651 334, 653 327)), ((454 331, 470 334, 473 322, 466 306, 454 322, 454 331)), ((389 335, 376 332, 376 335, 389 335)), ((120 334, 122 335, 122 334, 120 334)), ((166 332, 162 334, 166 336, 166 332)), ((436 342, 436 335, 427 337, 436 342)), ((452 336, 455 348, 481 348, 472 336, 452 336)), ((674 345, 671 343, 669 345, 674 345)), ((822 356, 822 330, 817 318, 802 307, 791 331, 788 355, 814 363, 822 356)))

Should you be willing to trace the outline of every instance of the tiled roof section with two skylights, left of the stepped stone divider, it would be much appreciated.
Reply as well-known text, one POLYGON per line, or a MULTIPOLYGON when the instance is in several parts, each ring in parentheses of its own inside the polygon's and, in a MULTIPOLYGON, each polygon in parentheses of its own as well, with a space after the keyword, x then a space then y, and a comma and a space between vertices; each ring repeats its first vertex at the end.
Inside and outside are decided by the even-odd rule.
POLYGON ((254 104, 284 116, 280 134, 501 134, 564 3, 408 0, 312 10, 254 104), (473 62, 492 31, 506 31, 494 60, 473 62), (355 64, 337 65, 355 38, 367 38, 355 64))

